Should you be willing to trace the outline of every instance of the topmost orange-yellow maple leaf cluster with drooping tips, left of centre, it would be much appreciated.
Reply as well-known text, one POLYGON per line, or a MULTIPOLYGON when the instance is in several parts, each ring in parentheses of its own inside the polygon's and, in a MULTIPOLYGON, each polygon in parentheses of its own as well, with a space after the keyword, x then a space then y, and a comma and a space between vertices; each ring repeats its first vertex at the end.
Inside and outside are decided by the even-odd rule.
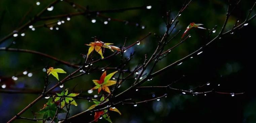
POLYGON ((113 44, 113 43, 104 43, 102 41, 98 41, 97 39, 95 39, 95 42, 90 42, 90 44, 85 44, 87 46, 90 46, 88 53, 87 53, 87 57, 89 56, 90 53, 92 53, 93 50, 95 50, 97 53, 99 53, 101 55, 101 58, 104 58, 104 56, 102 54, 102 48, 108 48, 111 51, 114 51, 114 50, 121 51, 120 48, 118 48, 116 46, 112 46, 111 44, 113 44))

